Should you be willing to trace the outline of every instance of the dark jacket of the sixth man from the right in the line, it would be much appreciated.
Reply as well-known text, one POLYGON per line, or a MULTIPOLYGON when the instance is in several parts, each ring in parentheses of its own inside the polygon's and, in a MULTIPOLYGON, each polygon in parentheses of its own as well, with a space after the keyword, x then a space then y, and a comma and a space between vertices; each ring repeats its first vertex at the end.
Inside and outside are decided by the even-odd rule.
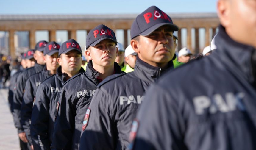
POLYGON ((13 104, 12 104, 12 110, 13 110, 13 118, 14 118, 14 124, 15 127, 18 128, 18 132, 24 132, 23 127, 21 125, 21 104, 23 101, 23 94, 25 90, 25 83, 26 80, 32 76, 33 74, 36 74, 43 70, 44 65, 35 64, 34 67, 27 68, 24 71, 20 73, 17 79, 17 86, 14 90, 13 95, 13 104))

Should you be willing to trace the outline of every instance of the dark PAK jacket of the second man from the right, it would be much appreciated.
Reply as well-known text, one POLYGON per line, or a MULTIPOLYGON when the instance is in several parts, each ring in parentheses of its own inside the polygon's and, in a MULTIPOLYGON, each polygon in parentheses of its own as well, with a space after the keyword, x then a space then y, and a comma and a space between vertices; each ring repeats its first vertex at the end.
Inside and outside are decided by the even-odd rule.
MULTIPOLYGON (((168 69, 173 63, 168 63, 168 69)), ((134 71, 113 75, 102 82, 89 106, 87 127, 81 134, 80 149, 127 149, 132 121, 148 87, 166 70, 137 57, 134 71)))

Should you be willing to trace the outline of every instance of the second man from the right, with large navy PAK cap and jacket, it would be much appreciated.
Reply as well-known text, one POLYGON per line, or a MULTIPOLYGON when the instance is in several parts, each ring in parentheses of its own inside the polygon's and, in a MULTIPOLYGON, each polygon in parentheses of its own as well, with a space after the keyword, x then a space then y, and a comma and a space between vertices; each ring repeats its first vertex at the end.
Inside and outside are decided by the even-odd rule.
POLYGON ((173 31, 178 27, 156 6, 137 16, 131 45, 138 57, 133 72, 112 76, 95 92, 86 112, 80 149, 127 149, 132 121, 144 93, 173 68, 173 31))

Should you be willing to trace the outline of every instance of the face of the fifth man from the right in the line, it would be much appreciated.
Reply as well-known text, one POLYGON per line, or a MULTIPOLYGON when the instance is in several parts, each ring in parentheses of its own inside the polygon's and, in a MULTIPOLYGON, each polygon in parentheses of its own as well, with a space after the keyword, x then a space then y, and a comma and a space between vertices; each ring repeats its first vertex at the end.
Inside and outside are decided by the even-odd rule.
POLYGON ((57 68, 59 67, 57 59, 58 59, 58 53, 54 53, 51 56, 46 54, 44 56, 44 61, 46 62, 47 70, 57 70, 57 68))

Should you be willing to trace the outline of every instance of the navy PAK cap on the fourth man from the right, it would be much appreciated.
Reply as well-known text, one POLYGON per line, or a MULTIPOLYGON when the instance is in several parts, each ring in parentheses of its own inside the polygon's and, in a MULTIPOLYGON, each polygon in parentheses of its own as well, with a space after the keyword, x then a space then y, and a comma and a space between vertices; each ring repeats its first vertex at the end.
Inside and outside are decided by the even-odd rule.
POLYGON ((59 49, 59 56, 61 54, 66 54, 67 52, 69 52, 71 50, 77 50, 77 51, 79 51, 79 53, 82 54, 81 47, 77 43, 77 41, 74 39, 69 39, 66 42, 61 44, 60 49, 59 49))

